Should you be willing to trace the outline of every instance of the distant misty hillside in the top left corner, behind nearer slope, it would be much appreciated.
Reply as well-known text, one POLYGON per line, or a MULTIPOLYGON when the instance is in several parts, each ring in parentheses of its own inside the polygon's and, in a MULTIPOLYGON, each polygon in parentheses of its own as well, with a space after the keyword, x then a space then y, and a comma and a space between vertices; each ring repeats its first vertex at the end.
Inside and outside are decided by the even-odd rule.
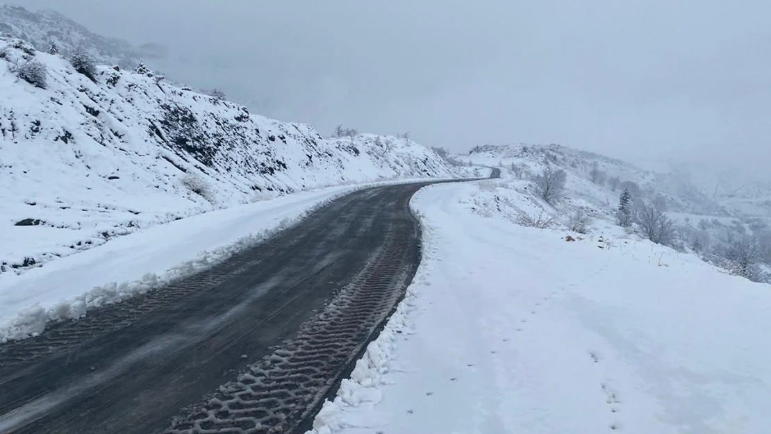
POLYGON ((0 32, 24 39, 40 51, 48 50, 51 42, 56 42, 63 55, 80 47, 105 65, 133 67, 151 54, 121 39, 96 35, 59 12, 30 12, 19 5, 0 4, 0 32))

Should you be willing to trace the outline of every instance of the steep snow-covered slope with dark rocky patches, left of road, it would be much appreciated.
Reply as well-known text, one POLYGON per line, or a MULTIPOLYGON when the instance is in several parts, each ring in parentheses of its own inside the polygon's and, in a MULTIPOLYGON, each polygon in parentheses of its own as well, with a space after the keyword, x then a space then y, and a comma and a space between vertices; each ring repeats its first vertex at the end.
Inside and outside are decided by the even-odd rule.
POLYGON ((325 140, 151 72, 90 79, 6 36, 0 53, 0 275, 283 193, 456 173, 410 140, 325 140), (14 73, 27 62, 45 66, 45 89, 14 73))

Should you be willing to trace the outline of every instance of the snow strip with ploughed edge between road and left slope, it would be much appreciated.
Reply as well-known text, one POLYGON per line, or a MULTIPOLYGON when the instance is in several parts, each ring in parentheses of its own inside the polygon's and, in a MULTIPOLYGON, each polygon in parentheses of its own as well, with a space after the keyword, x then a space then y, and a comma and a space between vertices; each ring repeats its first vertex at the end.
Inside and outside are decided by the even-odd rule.
MULTIPOLYGON (((401 180, 415 182, 415 180, 401 180)), ((0 280, 0 342, 26 338, 52 321, 80 318, 251 247, 354 190, 394 182, 298 192, 139 230, 0 280)), ((4 235, 5 238, 5 235, 4 235)))

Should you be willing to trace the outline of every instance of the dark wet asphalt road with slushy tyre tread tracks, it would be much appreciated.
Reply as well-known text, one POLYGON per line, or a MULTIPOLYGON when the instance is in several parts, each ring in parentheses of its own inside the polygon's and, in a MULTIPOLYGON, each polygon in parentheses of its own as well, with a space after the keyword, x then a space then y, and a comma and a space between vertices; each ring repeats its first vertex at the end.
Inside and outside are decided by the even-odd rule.
POLYGON ((408 203, 425 185, 349 194, 207 271, 0 345, 0 432, 299 429, 411 281, 408 203))

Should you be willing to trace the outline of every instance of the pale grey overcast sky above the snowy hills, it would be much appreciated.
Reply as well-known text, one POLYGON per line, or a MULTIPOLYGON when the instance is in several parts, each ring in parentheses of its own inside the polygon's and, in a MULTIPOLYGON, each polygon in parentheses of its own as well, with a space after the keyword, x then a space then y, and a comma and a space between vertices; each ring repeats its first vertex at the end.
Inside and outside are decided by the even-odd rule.
POLYGON ((771 2, 16 0, 253 111, 421 143, 771 160, 771 2))

